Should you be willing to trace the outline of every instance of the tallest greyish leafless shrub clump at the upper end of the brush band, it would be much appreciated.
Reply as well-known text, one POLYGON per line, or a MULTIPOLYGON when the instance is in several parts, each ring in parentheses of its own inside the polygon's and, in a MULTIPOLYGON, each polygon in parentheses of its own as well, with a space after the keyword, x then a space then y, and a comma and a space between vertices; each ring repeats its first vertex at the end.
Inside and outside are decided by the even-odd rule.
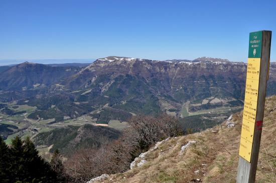
POLYGON ((115 172, 128 169, 135 157, 148 150, 157 141, 182 134, 178 118, 167 114, 159 117, 133 116, 129 120, 129 125, 130 127, 112 147, 115 172))

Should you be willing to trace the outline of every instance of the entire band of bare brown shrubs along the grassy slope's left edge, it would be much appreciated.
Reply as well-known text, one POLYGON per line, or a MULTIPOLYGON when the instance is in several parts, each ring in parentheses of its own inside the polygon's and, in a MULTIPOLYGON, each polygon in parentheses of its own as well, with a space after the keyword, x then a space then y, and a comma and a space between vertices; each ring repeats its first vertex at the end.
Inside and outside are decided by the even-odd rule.
POLYGON ((124 172, 131 161, 157 141, 180 135, 178 118, 166 114, 158 117, 133 116, 129 127, 115 141, 98 139, 100 148, 80 149, 65 161, 70 182, 85 182, 103 173, 124 172))

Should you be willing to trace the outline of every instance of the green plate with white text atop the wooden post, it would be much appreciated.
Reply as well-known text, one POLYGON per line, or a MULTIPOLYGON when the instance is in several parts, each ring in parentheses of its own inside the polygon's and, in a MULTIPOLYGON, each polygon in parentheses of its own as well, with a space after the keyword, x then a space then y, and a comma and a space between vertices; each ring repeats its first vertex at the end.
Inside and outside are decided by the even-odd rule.
POLYGON ((261 38, 262 38, 262 31, 253 32, 249 34, 248 58, 261 57, 261 38))

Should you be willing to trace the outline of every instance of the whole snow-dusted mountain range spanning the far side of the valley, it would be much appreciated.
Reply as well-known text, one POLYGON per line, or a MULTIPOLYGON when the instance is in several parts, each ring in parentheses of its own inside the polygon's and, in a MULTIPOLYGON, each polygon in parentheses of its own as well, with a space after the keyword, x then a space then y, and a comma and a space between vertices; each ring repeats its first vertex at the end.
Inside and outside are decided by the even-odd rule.
MULTIPOLYGON (((23 63, 0 73, 0 101, 21 98, 19 104, 37 106, 28 114, 32 119, 60 121, 88 114, 97 123, 108 123, 161 112, 183 117, 186 108, 242 106, 246 68, 246 63, 208 57, 158 61, 110 56, 85 67, 23 63)), ((276 65, 271 64, 267 94, 275 89, 276 65)))

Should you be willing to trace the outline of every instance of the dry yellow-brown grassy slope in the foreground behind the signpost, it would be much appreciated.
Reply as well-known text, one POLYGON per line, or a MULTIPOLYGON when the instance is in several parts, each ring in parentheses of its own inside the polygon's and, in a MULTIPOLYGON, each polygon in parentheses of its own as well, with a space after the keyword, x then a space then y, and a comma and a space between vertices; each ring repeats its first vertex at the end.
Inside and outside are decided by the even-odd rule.
MULTIPOLYGON (((275 103, 276 96, 266 100, 256 173, 258 183, 276 182, 275 103)), ((193 182, 195 178, 203 182, 236 182, 242 113, 235 114, 232 121, 236 124, 232 128, 226 128, 223 123, 201 133, 171 138, 148 153, 148 162, 143 166, 110 175, 104 182, 193 182), (190 140, 197 142, 180 155, 182 145, 190 140)))

